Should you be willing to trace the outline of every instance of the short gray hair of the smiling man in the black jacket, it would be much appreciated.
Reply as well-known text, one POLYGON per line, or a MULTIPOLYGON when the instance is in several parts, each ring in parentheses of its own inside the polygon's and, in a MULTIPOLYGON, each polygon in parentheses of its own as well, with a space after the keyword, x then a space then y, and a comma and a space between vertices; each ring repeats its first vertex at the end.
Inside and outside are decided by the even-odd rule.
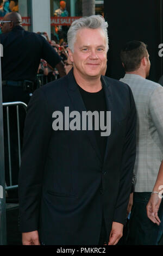
POLYGON ((101 28, 105 34, 106 38, 106 50, 109 49, 109 39, 108 39, 108 22, 106 22, 101 15, 92 15, 89 17, 82 17, 79 20, 73 21, 67 32, 67 42, 68 47, 72 52, 74 52, 74 42, 76 41, 76 35, 79 29, 82 28, 101 28))

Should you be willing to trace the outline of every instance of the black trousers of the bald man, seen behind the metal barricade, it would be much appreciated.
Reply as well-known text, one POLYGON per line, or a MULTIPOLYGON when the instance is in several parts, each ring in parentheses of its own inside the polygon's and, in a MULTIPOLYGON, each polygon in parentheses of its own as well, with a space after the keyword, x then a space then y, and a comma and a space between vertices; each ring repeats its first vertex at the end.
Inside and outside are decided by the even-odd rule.
MULTIPOLYGON (((2 97, 4 102, 22 101, 28 104, 30 95, 25 92, 22 87, 17 86, 3 86, 2 97)), ((20 107, 20 139, 23 141, 24 120, 26 118, 26 111, 20 107)), ((11 169, 12 169, 12 185, 18 184, 18 136, 17 136, 17 118, 16 107, 9 107, 9 121, 10 121, 10 148, 11 148, 11 169)), ((9 185, 9 155, 8 155, 8 132, 7 132, 7 111, 3 108, 3 127, 4 127, 4 161, 5 161, 5 181, 9 185)), ((17 191, 8 191, 9 198, 18 198, 17 191)))

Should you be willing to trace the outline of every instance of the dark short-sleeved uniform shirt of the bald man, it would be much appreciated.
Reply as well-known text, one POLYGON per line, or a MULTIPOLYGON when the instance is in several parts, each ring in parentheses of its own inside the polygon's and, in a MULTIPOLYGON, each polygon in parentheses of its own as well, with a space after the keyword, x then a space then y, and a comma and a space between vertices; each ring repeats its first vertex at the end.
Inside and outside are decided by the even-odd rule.
POLYGON ((43 36, 16 26, 0 35, 3 45, 2 80, 35 81, 40 59, 53 68, 61 61, 59 54, 43 36))

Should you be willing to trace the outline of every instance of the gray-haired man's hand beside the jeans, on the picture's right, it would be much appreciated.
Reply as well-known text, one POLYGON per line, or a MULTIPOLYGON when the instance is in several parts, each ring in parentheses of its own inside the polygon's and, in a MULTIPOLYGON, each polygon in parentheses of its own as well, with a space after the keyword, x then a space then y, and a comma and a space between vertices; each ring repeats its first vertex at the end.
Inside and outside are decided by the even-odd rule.
POLYGON ((116 245, 123 235, 123 224, 112 222, 112 229, 110 233, 108 245, 116 245))

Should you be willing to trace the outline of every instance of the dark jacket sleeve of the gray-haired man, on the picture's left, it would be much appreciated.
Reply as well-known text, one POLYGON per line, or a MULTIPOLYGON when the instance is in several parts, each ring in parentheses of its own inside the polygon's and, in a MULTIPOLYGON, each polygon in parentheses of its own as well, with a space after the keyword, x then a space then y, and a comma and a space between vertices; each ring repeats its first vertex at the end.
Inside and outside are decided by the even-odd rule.
POLYGON ((46 96, 42 89, 36 90, 27 108, 18 179, 19 221, 22 232, 39 228, 43 169, 51 137, 51 120, 46 96))

